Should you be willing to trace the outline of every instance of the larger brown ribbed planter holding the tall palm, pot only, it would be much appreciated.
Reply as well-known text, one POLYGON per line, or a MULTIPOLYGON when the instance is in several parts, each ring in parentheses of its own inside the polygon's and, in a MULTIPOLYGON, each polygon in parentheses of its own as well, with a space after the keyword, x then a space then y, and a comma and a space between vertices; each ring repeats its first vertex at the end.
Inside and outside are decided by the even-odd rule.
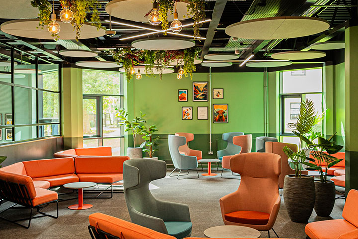
POLYGON ((288 216, 293 222, 306 223, 315 205, 314 177, 302 175, 286 175, 283 198, 288 216))

